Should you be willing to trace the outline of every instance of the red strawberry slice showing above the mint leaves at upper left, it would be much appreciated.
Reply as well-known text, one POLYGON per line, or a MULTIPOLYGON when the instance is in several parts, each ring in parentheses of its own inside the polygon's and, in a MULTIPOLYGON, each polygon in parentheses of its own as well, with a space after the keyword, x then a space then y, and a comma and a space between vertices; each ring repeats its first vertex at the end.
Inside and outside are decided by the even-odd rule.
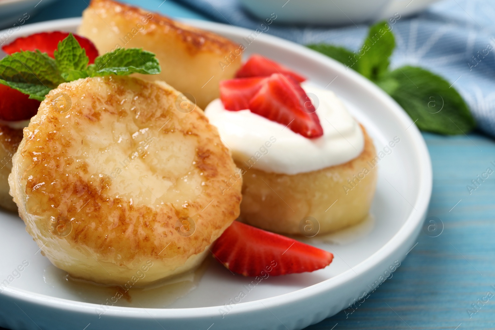
MULTIPOLYGON (((35 33, 27 37, 17 38, 12 43, 2 47, 2 50, 7 54, 12 54, 22 50, 36 50, 46 52, 50 57, 53 57, 53 51, 57 49, 58 42, 64 40, 69 35, 68 32, 54 31, 35 33)), ((79 42, 79 45, 86 50, 86 55, 90 59, 90 64, 95 62, 98 56, 98 50, 91 40, 73 34, 74 38, 79 42)))

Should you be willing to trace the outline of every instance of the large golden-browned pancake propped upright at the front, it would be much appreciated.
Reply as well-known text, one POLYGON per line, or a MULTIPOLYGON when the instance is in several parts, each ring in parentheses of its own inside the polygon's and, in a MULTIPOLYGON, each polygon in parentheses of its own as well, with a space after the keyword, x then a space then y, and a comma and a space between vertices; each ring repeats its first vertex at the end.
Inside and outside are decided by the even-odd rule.
POLYGON ((9 184, 56 267, 97 283, 154 282, 198 266, 239 216, 241 183, 218 189, 238 171, 229 150, 177 95, 108 76, 61 84, 41 103, 9 184))

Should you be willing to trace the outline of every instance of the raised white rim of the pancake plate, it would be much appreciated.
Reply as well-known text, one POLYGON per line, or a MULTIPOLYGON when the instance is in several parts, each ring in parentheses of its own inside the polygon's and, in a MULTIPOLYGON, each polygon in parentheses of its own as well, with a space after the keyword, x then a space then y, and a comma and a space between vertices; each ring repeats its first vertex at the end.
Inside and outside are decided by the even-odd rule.
MULTIPOLYGON (((231 31, 237 31, 239 33, 251 33, 253 30, 249 30, 246 28, 241 28, 237 26, 229 26, 227 24, 210 22, 198 19, 183 19, 183 18, 174 18, 181 22, 193 25, 195 27, 211 30, 214 28, 221 29, 227 28, 231 31), (211 29, 210 29, 211 28, 211 29)), ((56 19, 50 21, 44 21, 39 23, 31 23, 26 24, 23 29, 15 32, 11 35, 11 37, 16 37, 20 35, 36 33, 39 31, 46 30, 54 30, 60 29, 62 27, 67 28, 68 26, 78 26, 81 22, 81 17, 73 17, 73 18, 64 18, 64 19, 56 19)), ((6 30, 0 31, 5 32, 6 30)), ((392 97, 382 91, 379 87, 373 84, 371 81, 367 80, 363 76, 359 75, 357 72, 353 70, 346 70, 345 66, 340 62, 329 58, 323 54, 317 53, 314 50, 306 48, 302 45, 293 43, 288 40, 284 40, 282 38, 272 36, 272 35, 259 35, 258 38, 262 38, 266 41, 270 41, 273 44, 281 47, 290 46, 291 49, 297 50, 299 53, 303 53, 304 55, 316 59, 320 62, 326 62, 330 67, 339 71, 340 74, 350 75, 350 78, 353 80, 357 80, 359 82, 359 87, 367 90, 376 95, 382 102, 386 103, 388 108, 392 110, 391 114, 395 115, 400 124, 404 129, 407 129, 406 133, 411 138, 412 146, 414 147, 414 153, 418 156, 419 162, 419 184, 418 184, 418 193, 416 201, 413 205, 413 208, 416 212, 409 213, 407 219, 404 224, 400 227, 400 229, 392 236, 381 248, 375 251, 368 258, 357 264, 341 274, 338 274, 330 279, 322 281, 320 283, 316 283, 301 289, 297 289, 295 291, 284 293, 281 295, 263 298, 254 301, 241 302, 236 304, 236 309, 232 310, 232 314, 238 313, 246 313, 252 312, 259 309, 265 309, 267 307, 280 307, 281 305, 291 304, 293 302, 297 302, 299 300, 304 300, 309 298, 317 293, 322 293, 324 291, 335 288, 343 283, 350 282, 360 276, 364 275, 367 271, 370 271, 374 266, 380 264, 384 260, 387 259, 389 255, 392 255, 396 250, 398 250, 402 244, 404 244, 407 239, 415 234, 419 223, 422 223, 424 220, 424 216, 426 215, 426 211, 428 209, 428 205, 430 202, 430 197, 433 188, 433 170, 431 165, 430 154, 428 152, 428 148, 426 146, 426 142, 423 139, 421 133, 418 128, 413 125, 413 121, 410 117, 405 113, 405 111, 396 103, 392 97)), ((34 303, 38 305, 42 305, 44 307, 56 308, 60 310, 72 311, 76 313, 84 313, 84 314, 94 314, 94 309, 99 307, 99 304, 81 302, 75 300, 69 300, 64 298, 53 297, 41 293, 35 293, 32 291, 15 288, 15 287, 7 287, 0 293, 0 298, 2 295, 9 296, 13 299, 20 299, 29 303, 34 303)), ((224 307, 221 306, 208 306, 208 307, 192 307, 192 308, 147 308, 143 310, 142 308, 137 307, 122 307, 122 306, 108 306, 109 308, 105 311, 105 316, 108 317, 121 317, 123 314, 129 318, 145 318, 148 319, 150 316, 156 316, 159 318, 167 318, 167 319, 182 319, 184 317, 191 318, 194 315, 194 318, 198 317, 211 317, 218 316, 218 309, 224 307)))

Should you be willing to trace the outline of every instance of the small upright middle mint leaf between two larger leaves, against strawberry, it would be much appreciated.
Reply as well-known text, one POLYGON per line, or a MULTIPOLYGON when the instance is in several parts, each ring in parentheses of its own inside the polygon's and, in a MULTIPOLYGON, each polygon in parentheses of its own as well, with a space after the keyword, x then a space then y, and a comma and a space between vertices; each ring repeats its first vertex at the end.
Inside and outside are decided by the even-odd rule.
MULTIPOLYGON (((58 43, 57 49, 53 52, 55 62, 60 72, 69 72, 72 70, 84 70, 88 66, 89 58, 86 56, 86 50, 79 45, 72 33, 58 43)), ((64 75, 62 74, 62 77, 64 75)), ((67 80, 71 81, 74 79, 67 80)))

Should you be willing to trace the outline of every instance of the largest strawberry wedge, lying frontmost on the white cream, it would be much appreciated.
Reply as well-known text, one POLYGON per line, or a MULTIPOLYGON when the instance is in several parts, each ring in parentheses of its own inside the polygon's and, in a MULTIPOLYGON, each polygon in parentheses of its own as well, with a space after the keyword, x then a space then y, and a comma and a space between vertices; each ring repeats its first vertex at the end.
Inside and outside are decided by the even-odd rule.
POLYGON ((249 110, 287 125, 303 137, 318 138, 323 135, 311 99, 299 83, 289 76, 279 73, 271 75, 251 98, 249 110))

